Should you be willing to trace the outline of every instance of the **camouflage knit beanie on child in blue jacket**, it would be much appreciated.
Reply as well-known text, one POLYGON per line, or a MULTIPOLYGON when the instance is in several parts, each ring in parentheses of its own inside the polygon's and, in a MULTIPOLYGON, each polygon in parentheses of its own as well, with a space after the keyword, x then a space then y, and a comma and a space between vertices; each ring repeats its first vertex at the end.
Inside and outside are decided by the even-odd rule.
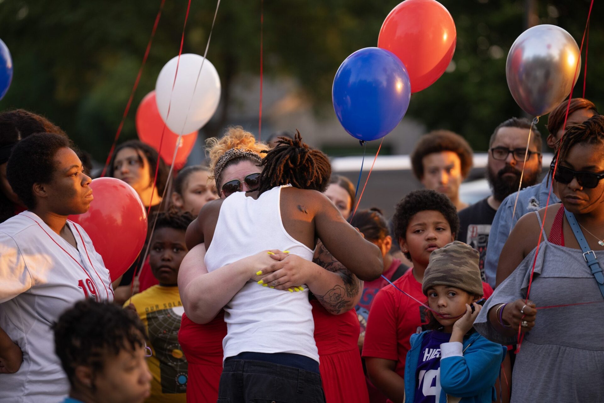
POLYGON ((428 295, 428 288, 432 286, 448 285, 482 296, 479 256, 477 250, 458 240, 432 252, 423 274, 423 294, 428 295))

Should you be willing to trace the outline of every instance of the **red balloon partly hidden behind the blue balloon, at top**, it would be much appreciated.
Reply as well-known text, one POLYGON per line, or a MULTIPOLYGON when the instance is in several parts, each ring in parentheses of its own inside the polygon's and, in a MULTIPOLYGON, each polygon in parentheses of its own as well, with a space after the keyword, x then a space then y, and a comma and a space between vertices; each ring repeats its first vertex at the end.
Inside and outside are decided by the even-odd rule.
POLYGON ((456 40, 455 22, 445 6, 435 0, 405 0, 384 20, 377 46, 399 57, 411 92, 418 92, 445 73, 456 40))

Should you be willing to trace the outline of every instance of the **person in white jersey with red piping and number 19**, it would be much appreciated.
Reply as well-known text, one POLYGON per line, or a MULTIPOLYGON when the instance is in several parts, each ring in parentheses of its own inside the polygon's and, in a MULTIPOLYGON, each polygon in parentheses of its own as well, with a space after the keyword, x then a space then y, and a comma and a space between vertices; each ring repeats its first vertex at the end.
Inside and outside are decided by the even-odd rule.
POLYGON ((70 147, 60 135, 34 134, 8 160, 8 182, 28 210, 0 224, 1 403, 62 401, 69 382, 50 326, 78 300, 113 299, 103 259, 67 219, 92 202, 70 147))

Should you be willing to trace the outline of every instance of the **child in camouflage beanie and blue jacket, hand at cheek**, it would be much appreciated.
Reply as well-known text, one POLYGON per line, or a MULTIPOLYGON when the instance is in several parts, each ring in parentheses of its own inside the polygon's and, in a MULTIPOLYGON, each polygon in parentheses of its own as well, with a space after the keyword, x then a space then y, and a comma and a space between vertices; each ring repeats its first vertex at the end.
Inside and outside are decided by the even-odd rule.
POLYGON ((484 402, 497 399, 495 381, 506 347, 468 332, 483 295, 478 251, 454 241, 432 252, 422 291, 438 329, 411 336, 405 401, 484 402), (471 305, 475 312, 472 312, 471 305))

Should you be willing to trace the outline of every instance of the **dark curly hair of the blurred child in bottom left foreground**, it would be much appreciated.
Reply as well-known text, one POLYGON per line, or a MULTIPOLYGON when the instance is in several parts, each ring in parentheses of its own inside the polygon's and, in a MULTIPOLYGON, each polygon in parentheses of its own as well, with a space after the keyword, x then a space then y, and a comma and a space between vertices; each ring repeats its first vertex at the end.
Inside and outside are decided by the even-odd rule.
POLYGON ((53 330, 54 352, 72 386, 77 366, 91 367, 97 374, 103 370, 106 353, 118 355, 145 345, 145 328, 136 312, 107 302, 77 302, 63 312, 53 330))

